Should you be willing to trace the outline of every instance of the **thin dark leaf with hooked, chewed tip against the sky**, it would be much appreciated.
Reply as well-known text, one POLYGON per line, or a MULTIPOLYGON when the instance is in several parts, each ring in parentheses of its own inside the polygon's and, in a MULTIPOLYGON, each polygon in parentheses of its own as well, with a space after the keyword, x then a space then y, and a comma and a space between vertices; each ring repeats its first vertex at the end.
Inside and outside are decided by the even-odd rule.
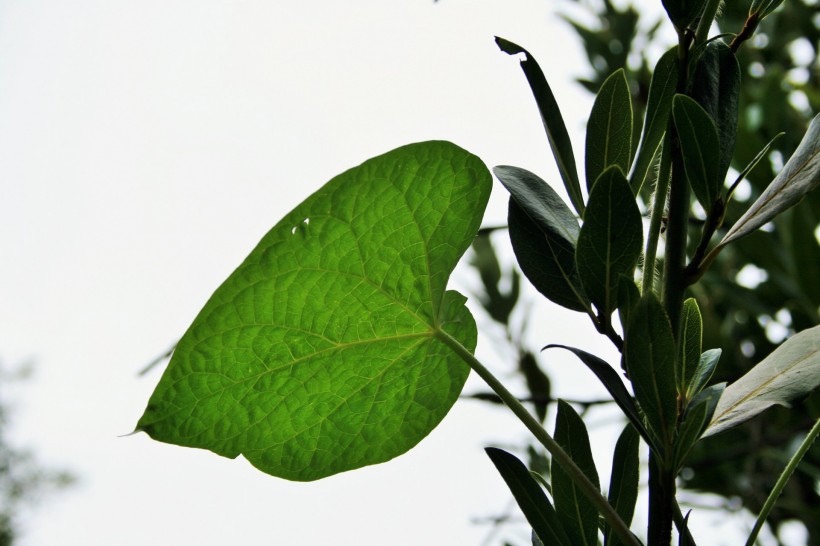
POLYGON ((498 36, 496 36, 495 42, 498 44, 499 49, 508 55, 519 55, 521 53, 525 55, 526 58, 521 61, 521 69, 527 77, 527 82, 530 84, 530 89, 538 105, 538 111, 541 113, 541 121, 547 131, 550 149, 558 166, 558 172, 561 174, 561 179, 564 181, 567 195, 569 195, 570 202, 572 202, 572 206, 578 212, 578 215, 583 217, 584 197, 581 193, 581 183, 575 166, 572 142, 569 139, 561 110, 558 108, 558 102, 547 83, 547 78, 544 77, 541 67, 538 66, 529 51, 498 36))

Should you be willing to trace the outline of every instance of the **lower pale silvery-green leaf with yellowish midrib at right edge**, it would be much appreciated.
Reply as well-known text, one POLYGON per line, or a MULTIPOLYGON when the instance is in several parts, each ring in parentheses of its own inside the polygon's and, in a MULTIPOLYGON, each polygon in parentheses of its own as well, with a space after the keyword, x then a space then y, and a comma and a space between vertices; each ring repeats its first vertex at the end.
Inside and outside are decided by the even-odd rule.
POLYGON ((747 421, 774 406, 788 406, 820 385, 820 326, 787 339, 743 377, 726 387, 704 436, 747 421))

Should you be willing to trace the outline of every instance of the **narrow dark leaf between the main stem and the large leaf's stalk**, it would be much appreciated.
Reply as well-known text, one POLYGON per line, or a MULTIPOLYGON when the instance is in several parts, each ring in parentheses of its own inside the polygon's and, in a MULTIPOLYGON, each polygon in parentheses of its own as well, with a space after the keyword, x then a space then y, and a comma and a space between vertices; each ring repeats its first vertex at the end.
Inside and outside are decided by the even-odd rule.
MULTIPOLYGON (((615 444, 612 458, 612 473, 609 480, 609 504, 615 507, 618 515, 629 525, 635 515, 635 503, 638 500, 638 483, 640 479, 640 460, 638 447, 640 435, 632 425, 626 425, 615 444)), ((604 546, 618 546, 620 538, 609 526, 604 529, 604 546)))

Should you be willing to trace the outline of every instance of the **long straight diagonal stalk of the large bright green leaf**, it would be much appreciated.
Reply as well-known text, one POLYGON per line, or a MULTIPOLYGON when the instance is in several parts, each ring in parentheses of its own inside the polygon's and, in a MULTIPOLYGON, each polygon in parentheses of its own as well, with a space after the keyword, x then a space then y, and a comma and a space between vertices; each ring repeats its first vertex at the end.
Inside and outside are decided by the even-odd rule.
POLYGON ((516 417, 524 424, 527 429, 541 442, 541 444, 550 452, 553 459, 561 465, 561 468, 570 476, 572 481, 578 488, 587 496, 587 498, 595 505, 607 523, 612 526, 612 530, 618 535, 624 544, 630 546, 641 546, 640 541, 629 530, 629 526, 624 523, 615 508, 609 504, 609 501, 601 494, 598 488, 593 484, 583 470, 578 468, 575 461, 567 454, 566 451, 553 439, 552 436, 541 426, 541 423, 527 411, 527 408, 518 401, 518 399, 507 390, 501 381, 496 378, 490 370, 488 370, 470 351, 468 351, 458 340, 454 339, 450 334, 443 330, 436 330, 436 338, 453 349, 467 364, 473 369, 475 373, 484 380, 485 383, 501 398, 508 408, 515 414, 516 417))

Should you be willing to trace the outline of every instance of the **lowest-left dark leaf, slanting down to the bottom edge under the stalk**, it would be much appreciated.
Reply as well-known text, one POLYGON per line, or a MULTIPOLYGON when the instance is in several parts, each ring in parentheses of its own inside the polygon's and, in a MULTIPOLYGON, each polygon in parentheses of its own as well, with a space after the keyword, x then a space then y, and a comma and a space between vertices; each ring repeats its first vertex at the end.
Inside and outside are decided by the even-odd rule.
POLYGON ((544 490, 530 475, 524 463, 503 449, 488 447, 485 451, 501 477, 504 478, 507 487, 510 488, 515 501, 538 538, 544 544, 551 546, 573 546, 559 521, 555 508, 552 507, 544 490))

